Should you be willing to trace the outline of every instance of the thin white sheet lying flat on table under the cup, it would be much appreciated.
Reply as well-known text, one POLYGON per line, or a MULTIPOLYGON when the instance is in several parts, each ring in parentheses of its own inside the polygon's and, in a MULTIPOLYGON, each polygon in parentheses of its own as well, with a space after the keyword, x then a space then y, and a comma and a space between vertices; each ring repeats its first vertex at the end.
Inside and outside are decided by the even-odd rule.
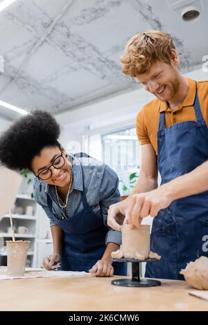
POLYGON ((35 277, 83 277, 92 276, 87 272, 72 272, 72 271, 48 271, 42 268, 26 268, 26 272, 22 277, 8 277, 6 267, 0 268, 0 280, 6 279, 31 279, 35 277))

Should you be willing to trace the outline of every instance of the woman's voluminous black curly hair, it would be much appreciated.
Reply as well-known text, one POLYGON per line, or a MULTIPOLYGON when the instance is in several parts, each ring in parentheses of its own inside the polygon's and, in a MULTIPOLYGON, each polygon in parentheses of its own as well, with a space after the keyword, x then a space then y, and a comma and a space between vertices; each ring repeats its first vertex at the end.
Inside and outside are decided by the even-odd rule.
POLYGON ((12 124, 0 138, 0 161, 10 169, 31 169, 44 147, 60 147, 60 126, 46 111, 33 111, 12 124))

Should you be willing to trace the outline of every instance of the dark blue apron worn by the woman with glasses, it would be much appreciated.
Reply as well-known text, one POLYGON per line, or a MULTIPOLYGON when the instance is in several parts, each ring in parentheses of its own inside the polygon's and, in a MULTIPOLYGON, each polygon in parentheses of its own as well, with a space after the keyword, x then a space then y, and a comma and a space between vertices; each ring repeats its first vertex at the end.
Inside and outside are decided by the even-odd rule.
MULTIPOLYGON (((64 220, 58 220, 54 215, 56 223, 64 230, 60 270, 88 272, 105 252, 105 236, 108 229, 103 224, 101 214, 96 214, 87 203, 84 177, 83 188, 81 212, 64 220)), ((49 195, 48 206, 52 212, 52 200, 49 195)), ((126 275, 126 263, 112 263, 112 266, 114 275, 126 275)))

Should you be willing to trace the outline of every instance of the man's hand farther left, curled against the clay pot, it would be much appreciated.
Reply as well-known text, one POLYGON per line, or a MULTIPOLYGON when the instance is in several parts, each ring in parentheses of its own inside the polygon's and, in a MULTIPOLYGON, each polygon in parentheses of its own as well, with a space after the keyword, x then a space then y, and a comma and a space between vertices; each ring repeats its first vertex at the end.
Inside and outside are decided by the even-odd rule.
POLYGON ((121 225, 125 224, 125 213, 130 204, 130 198, 112 204, 107 212, 107 225, 114 230, 121 231, 121 225))

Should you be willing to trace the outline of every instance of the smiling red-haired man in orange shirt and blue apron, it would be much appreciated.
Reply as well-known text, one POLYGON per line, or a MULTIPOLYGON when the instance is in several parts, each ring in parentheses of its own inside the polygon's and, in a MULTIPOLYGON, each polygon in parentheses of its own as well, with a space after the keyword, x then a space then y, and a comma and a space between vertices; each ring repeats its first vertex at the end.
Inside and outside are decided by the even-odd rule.
POLYGON ((201 186, 193 179, 205 174, 206 167, 200 165, 208 159, 208 82, 180 73, 171 36, 158 30, 132 37, 121 63, 123 73, 135 77, 156 98, 137 115, 139 180, 125 201, 110 207, 108 224, 120 229, 117 214, 137 227, 145 216, 156 216, 151 250, 162 259, 147 263, 146 276, 182 279, 180 269, 207 254, 202 247, 208 234, 208 193, 202 191, 208 186, 202 176, 196 178, 201 186), (195 170, 198 166, 200 171, 195 170), (156 189, 158 171, 162 186, 156 189))

